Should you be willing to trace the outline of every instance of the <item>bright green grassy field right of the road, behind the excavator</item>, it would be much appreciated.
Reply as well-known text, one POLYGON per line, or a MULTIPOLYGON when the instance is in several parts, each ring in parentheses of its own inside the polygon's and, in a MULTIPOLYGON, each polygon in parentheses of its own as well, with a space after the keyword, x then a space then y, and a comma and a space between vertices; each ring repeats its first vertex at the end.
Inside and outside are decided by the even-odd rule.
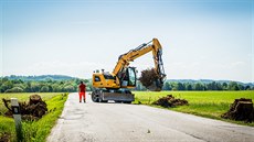
POLYGON ((221 118, 221 114, 230 109, 234 99, 251 98, 254 100, 254 91, 135 91, 134 94, 134 103, 141 102, 152 106, 151 103, 160 97, 173 95, 176 98, 188 100, 189 106, 169 108, 170 110, 254 127, 254 122, 244 123, 221 118))

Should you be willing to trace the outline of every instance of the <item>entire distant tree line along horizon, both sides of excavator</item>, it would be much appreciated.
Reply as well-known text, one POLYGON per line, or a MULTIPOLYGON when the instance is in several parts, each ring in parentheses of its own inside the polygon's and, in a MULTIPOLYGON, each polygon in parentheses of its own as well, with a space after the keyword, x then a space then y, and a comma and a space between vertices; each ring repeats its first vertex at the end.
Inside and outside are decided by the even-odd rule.
MULTIPOLYGON (((7 76, 0 79, 0 92, 74 92, 80 81, 86 84, 86 90, 93 90, 91 79, 81 79, 62 75, 7 76)), ((133 90, 147 90, 139 81, 133 90)), ((230 80, 167 80, 162 90, 254 90, 254 84, 230 80)))

